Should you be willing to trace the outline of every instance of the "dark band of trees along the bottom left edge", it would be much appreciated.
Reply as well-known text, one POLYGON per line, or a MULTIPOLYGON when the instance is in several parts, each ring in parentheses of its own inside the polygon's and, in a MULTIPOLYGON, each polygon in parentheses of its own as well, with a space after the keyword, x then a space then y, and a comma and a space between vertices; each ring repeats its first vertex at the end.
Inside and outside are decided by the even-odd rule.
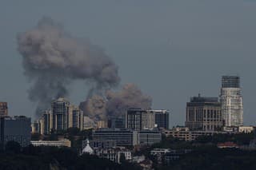
POLYGON ((16 142, 8 142, 0 152, 0 169, 5 170, 140 170, 137 165, 124 162, 116 164, 98 156, 82 155, 71 148, 34 147, 21 148, 16 142))

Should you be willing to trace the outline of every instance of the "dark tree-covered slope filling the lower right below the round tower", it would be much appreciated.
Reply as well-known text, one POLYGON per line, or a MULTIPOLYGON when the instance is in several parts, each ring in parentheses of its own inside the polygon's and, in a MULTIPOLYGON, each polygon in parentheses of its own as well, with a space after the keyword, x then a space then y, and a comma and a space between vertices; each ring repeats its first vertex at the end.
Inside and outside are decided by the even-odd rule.
POLYGON ((145 148, 137 154, 144 154, 153 160, 155 170, 256 169, 256 150, 217 147, 218 143, 226 141, 238 145, 249 145, 254 137, 254 133, 215 134, 213 136, 199 136, 193 141, 185 141, 172 136, 163 136, 160 143, 145 148), (164 161, 162 161, 163 164, 158 164, 158 160, 154 156, 150 156, 150 150, 154 148, 191 149, 192 152, 181 155, 178 160, 170 161, 169 164, 164 163, 164 161))

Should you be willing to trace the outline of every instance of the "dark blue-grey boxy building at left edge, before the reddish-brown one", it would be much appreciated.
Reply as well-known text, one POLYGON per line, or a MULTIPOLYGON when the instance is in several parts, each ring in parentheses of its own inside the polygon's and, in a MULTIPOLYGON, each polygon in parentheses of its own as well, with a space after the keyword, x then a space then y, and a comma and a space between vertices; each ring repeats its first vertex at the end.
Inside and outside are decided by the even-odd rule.
POLYGON ((31 119, 24 116, 1 117, 0 140, 2 144, 8 141, 16 141, 22 147, 30 144, 31 119))

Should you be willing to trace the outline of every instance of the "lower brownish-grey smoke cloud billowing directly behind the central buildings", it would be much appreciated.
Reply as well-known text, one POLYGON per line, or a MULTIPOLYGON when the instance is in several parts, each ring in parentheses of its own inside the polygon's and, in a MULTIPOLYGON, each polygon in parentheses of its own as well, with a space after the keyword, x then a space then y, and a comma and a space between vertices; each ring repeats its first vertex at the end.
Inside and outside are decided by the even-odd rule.
POLYGON ((127 109, 150 109, 151 105, 151 97, 143 94, 138 86, 126 84, 118 92, 106 91, 105 98, 98 96, 90 97, 87 101, 80 104, 80 108, 91 119, 106 120, 106 118, 123 115, 127 109))

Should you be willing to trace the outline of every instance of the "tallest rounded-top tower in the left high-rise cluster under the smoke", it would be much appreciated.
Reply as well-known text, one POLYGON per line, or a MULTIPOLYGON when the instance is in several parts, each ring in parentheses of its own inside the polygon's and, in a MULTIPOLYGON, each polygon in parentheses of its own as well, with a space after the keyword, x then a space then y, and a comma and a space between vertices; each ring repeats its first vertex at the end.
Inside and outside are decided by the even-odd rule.
POLYGON ((53 129, 66 130, 68 128, 68 116, 70 112, 70 101, 65 98, 58 98, 51 104, 53 113, 53 129))

